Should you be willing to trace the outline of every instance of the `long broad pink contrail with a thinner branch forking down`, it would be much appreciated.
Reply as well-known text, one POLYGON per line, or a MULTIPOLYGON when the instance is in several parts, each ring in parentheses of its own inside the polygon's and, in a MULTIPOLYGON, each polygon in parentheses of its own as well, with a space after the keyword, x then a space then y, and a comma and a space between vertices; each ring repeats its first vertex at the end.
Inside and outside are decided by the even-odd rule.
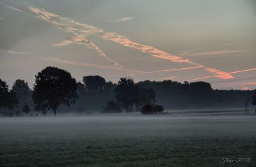
MULTIPOLYGON (((67 17, 61 17, 60 15, 50 13, 49 11, 46 11, 44 9, 36 8, 27 3, 19 3, 19 4, 24 6, 25 11, 27 13, 30 13, 31 15, 34 15, 35 17, 38 17, 38 18, 45 20, 47 22, 50 22, 52 24, 58 25, 58 27, 60 29, 63 29, 64 31, 74 34, 75 36, 79 36, 80 38, 83 38, 83 41, 84 41, 84 43, 86 43, 86 46, 90 45, 90 47, 92 47, 95 50, 97 50, 99 48, 97 48, 97 46, 95 44, 91 43, 90 41, 88 42, 88 40, 86 40, 87 36, 97 35, 97 36, 100 36, 104 40, 113 41, 113 42, 118 43, 124 47, 129 47, 129 48, 134 48, 136 50, 140 50, 141 52, 143 52, 145 54, 150 54, 153 57, 157 57, 160 59, 166 59, 166 60, 169 60, 172 62, 186 62, 186 63, 193 64, 196 66, 203 66, 202 64, 192 62, 189 59, 184 59, 183 57, 179 57, 177 55, 168 54, 167 52, 164 52, 163 50, 159 50, 157 48, 150 47, 148 45, 136 43, 134 41, 129 40, 129 38, 127 38, 126 36, 122 36, 117 33, 109 33, 109 32, 104 31, 103 29, 100 29, 93 25, 82 24, 80 22, 77 22, 76 20, 72 20, 67 17)), ((106 59, 108 61, 111 61, 114 65, 118 65, 117 62, 115 62, 109 58, 106 58, 106 55, 100 54, 100 56, 104 57, 104 59, 106 59)), ((209 73, 213 73, 214 76, 221 78, 221 79, 233 78, 233 76, 231 76, 229 73, 227 73, 225 71, 221 71, 219 69, 207 68, 205 66, 204 66, 204 69, 205 69, 205 71, 208 71, 209 73)))

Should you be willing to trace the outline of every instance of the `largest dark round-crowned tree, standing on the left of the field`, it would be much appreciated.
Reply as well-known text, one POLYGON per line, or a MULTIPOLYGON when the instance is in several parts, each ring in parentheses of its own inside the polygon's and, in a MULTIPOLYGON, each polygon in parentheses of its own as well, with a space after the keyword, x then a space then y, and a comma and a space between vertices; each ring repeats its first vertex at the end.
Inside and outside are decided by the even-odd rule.
POLYGON ((33 101, 36 110, 52 109, 54 116, 58 106, 76 102, 77 83, 64 69, 47 67, 36 75, 33 101))

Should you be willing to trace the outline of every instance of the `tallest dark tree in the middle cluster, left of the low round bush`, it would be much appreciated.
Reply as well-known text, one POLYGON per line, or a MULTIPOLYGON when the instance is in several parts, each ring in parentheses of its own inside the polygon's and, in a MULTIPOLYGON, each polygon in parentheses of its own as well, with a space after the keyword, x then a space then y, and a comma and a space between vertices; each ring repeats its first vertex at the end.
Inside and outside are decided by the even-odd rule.
POLYGON ((139 85, 135 84, 132 78, 120 78, 115 88, 115 99, 118 105, 126 112, 133 110, 133 105, 138 103, 140 94, 139 85))

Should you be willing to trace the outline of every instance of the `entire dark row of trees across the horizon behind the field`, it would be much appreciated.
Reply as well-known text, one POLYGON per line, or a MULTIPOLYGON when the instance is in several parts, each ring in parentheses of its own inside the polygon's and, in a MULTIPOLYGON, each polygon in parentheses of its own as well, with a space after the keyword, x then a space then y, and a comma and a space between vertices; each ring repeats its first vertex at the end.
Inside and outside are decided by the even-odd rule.
POLYGON ((146 80, 135 83, 132 78, 120 78, 118 83, 113 83, 106 82, 102 76, 84 76, 82 83, 76 82, 68 71, 56 67, 40 71, 35 76, 33 90, 29 89, 28 82, 20 79, 9 90, 0 79, 0 112, 17 116, 20 111, 28 115, 31 110, 43 115, 52 110, 56 115, 57 110, 136 112, 145 108, 153 111, 162 106, 186 110, 241 108, 248 99, 256 105, 256 91, 214 90, 207 82, 146 80))

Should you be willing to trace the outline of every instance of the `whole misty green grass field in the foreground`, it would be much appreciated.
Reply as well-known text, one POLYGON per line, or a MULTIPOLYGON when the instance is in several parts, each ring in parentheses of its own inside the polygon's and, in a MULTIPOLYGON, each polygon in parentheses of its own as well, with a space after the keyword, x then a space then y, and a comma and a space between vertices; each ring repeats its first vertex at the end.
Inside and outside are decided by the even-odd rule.
POLYGON ((256 115, 1 118, 0 166, 256 166, 256 115))

